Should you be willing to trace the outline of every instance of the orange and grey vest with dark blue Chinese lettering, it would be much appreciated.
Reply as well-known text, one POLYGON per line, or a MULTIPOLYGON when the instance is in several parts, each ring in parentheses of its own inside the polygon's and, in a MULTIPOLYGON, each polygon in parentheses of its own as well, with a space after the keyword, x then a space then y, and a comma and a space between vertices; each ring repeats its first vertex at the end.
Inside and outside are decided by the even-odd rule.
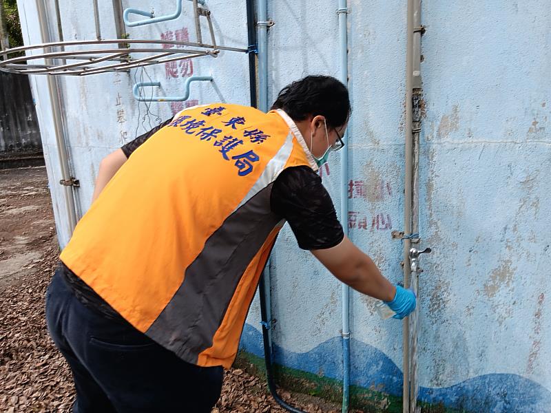
POLYGON ((273 182, 299 165, 318 169, 282 110, 185 109, 117 171, 61 260, 181 359, 229 368, 284 224, 273 182))

